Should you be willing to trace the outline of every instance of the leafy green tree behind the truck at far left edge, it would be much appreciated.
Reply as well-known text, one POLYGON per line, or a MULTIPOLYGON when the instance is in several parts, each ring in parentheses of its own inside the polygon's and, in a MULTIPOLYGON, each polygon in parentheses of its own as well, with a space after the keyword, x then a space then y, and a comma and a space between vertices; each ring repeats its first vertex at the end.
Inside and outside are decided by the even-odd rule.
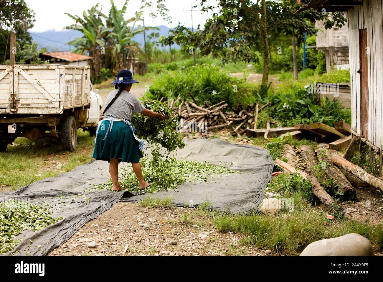
MULTIPOLYGON (((32 43, 28 29, 34 25, 34 12, 24 0, 0 2, 0 61, 5 63, 10 54, 10 31, 16 33, 17 46, 32 43)), ((17 48, 18 49, 18 48, 17 48)), ((16 61, 23 61, 23 52, 16 49, 16 61)))

